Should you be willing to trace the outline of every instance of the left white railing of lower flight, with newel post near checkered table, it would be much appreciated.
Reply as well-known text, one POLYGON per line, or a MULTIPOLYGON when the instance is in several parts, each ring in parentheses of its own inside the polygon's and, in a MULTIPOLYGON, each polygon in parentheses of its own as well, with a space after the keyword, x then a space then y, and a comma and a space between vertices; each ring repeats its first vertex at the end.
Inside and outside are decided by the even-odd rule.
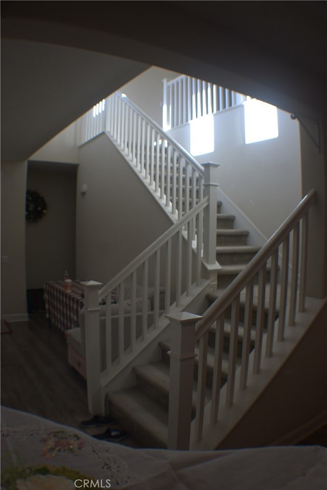
POLYGON ((209 198, 184 214, 162 236, 136 257, 105 286, 95 281, 85 285, 85 350, 88 404, 91 413, 104 412, 105 389, 122 369, 169 325, 164 313, 181 311, 210 283, 202 278, 202 230, 209 198), (197 228, 194 246, 193 226, 197 228), (186 232, 184 231, 186 229, 186 232), (183 240, 183 238, 185 240, 183 240), (194 246, 194 247, 193 247, 194 246), (139 288, 141 285, 141 291, 139 288), (125 286, 130 300, 130 327, 126 328, 124 312, 125 286), (150 311, 148 289, 154 287, 153 310, 150 311), (160 310, 160 290, 165 304, 160 310), (112 292, 119 292, 118 305, 111 304, 112 292), (104 332, 101 332, 100 306, 106 300, 104 332), (141 309, 136 310, 138 301, 141 309), (116 353, 112 355, 112 308, 118 306, 116 353), (141 314, 141 328, 136 326, 136 313, 141 314), (148 322, 151 313, 151 322, 148 322), (105 339, 105 340, 103 340, 105 339), (104 344, 102 344, 104 342, 104 344), (95 355, 97 353, 97 355, 95 355))

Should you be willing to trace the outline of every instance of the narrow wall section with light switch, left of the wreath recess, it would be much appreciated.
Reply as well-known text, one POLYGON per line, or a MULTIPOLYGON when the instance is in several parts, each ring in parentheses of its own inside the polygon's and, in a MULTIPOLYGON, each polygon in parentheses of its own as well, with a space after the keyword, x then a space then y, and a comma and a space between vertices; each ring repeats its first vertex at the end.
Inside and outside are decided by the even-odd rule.
POLYGON ((25 274, 26 161, 1 162, 1 317, 27 318, 25 274))

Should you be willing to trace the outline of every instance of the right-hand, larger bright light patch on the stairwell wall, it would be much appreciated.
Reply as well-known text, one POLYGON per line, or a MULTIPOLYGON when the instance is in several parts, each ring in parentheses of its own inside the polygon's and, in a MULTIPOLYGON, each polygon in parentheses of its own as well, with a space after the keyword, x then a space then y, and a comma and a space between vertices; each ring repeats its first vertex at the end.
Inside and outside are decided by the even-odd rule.
POLYGON ((244 103, 245 143, 278 137, 277 108, 257 99, 244 103))

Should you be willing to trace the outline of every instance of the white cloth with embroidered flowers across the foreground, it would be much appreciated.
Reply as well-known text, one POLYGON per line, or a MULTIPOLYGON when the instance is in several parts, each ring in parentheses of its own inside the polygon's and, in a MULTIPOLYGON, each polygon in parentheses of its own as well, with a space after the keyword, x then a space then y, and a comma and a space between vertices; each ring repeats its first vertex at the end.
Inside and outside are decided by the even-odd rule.
POLYGON ((201 452, 132 449, 100 443, 74 428, 6 407, 1 431, 2 489, 327 488, 327 450, 320 446, 201 452))

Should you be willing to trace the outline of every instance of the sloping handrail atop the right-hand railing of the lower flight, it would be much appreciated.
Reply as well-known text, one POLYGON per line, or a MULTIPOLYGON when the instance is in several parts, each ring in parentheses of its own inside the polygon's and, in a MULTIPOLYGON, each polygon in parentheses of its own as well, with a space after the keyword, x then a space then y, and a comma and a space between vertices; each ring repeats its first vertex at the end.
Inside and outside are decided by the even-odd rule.
POLYGON ((316 199, 316 191, 311 189, 308 194, 299 202, 294 211, 289 215, 284 223, 264 244, 262 249, 253 257, 237 278, 230 283, 222 295, 203 314, 202 320, 197 325, 196 341, 209 329, 217 318, 225 311, 239 293, 246 287, 249 280, 258 274, 260 268, 271 257, 272 253, 279 247, 301 217, 307 212, 309 207, 316 199))

